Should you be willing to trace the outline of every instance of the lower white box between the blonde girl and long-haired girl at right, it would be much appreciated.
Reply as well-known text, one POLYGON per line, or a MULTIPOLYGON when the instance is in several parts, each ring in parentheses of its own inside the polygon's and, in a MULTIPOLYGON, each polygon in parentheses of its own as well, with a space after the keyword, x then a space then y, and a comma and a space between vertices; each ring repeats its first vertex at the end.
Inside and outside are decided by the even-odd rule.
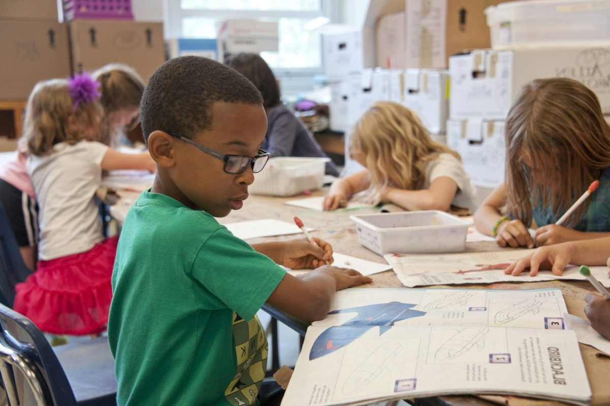
POLYGON ((462 156, 473 185, 495 188, 504 182, 504 121, 447 121, 447 145, 462 156))

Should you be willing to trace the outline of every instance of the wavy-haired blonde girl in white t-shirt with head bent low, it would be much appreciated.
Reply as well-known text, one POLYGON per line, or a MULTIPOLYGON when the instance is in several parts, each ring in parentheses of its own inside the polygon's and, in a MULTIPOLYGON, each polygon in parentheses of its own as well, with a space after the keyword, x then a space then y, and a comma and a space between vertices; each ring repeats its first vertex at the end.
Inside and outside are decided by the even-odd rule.
POLYGON ((417 115, 395 102, 377 102, 359 119, 351 157, 366 169, 332 183, 323 207, 345 207, 368 190, 371 202, 405 210, 475 210, 476 190, 460 156, 430 138, 417 115))

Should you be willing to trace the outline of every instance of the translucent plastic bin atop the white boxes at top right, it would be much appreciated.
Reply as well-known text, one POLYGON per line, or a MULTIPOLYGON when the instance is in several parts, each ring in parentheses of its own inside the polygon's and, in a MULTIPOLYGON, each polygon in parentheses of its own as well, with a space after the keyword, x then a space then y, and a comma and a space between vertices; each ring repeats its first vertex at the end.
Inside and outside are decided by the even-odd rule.
POLYGON ((493 49, 610 42, 610 1, 527 0, 487 7, 493 49))

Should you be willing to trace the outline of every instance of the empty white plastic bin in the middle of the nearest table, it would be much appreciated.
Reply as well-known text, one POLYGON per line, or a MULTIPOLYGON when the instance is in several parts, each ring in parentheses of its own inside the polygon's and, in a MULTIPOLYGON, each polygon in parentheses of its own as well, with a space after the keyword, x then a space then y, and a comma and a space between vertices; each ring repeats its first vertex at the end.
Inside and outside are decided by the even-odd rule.
POLYGON ((466 248, 468 221, 439 210, 350 216, 358 241, 379 255, 388 252, 430 254, 466 248))

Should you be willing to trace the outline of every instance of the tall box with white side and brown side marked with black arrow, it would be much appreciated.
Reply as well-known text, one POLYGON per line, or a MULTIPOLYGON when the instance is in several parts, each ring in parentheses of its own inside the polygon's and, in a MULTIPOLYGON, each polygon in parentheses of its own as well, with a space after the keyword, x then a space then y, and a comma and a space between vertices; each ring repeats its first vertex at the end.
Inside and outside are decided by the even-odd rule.
POLYGON ((484 10, 501 0, 406 0, 407 68, 447 68, 450 55, 489 48, 484 10))

